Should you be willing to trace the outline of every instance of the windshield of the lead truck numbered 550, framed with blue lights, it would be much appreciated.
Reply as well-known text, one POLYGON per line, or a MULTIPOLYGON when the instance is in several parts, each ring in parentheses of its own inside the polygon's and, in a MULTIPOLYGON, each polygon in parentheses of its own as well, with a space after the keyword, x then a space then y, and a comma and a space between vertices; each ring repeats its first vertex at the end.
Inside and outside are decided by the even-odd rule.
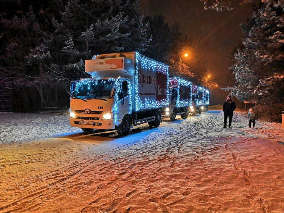
POLYGON ((72 98, 110 99, 114 85, 113 79, 84 79, 76 83, 72 98))

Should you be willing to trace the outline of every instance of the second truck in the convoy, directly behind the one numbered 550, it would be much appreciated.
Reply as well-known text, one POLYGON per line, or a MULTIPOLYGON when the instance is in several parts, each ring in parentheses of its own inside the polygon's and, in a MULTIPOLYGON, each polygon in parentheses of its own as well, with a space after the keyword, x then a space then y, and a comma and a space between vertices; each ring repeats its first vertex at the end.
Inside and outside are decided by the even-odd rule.
POLYGON ((163 117, 170 117, 174 121, 177 115, 187 118, 191 106, 192 83, 183 78, 175 77, 169 79, 169 106, 162 112, 163 117))

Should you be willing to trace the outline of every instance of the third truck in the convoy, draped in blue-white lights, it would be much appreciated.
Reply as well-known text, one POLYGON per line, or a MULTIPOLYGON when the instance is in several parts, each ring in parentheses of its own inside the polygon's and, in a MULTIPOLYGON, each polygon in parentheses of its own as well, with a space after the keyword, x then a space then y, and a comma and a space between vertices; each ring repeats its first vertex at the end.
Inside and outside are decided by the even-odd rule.
POLYGON ((204 107, 204 87, 193 85, 192 86, 192 109, 191 114, 201 114, 204 107))

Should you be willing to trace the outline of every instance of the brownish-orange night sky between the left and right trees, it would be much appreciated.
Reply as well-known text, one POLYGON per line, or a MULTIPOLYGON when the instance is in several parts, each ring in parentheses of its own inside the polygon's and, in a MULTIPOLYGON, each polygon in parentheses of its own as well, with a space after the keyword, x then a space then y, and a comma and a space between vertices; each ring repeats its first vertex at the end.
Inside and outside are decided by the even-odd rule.
POLYGON ((204 10, 200 0, 141 0, 141 12, 144 16, 161 14, 170 26, 177 22, 193 39, 194 51, 199 52, 213 80, 221 87, 234 82, 230 60, 242 41, 240 24, 251 16, 252 3, 216 12, 204 10))

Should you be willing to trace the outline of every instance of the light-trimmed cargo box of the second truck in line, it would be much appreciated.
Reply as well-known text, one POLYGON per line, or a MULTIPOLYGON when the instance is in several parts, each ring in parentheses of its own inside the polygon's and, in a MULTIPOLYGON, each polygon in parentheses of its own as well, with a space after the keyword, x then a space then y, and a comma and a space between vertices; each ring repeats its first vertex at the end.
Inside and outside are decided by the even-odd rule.
POLYGON ((169 87, 176 88, 178 92, 176 107, 191 106, 191 87, 192 83, 183 78, 170 78, 169 87))

